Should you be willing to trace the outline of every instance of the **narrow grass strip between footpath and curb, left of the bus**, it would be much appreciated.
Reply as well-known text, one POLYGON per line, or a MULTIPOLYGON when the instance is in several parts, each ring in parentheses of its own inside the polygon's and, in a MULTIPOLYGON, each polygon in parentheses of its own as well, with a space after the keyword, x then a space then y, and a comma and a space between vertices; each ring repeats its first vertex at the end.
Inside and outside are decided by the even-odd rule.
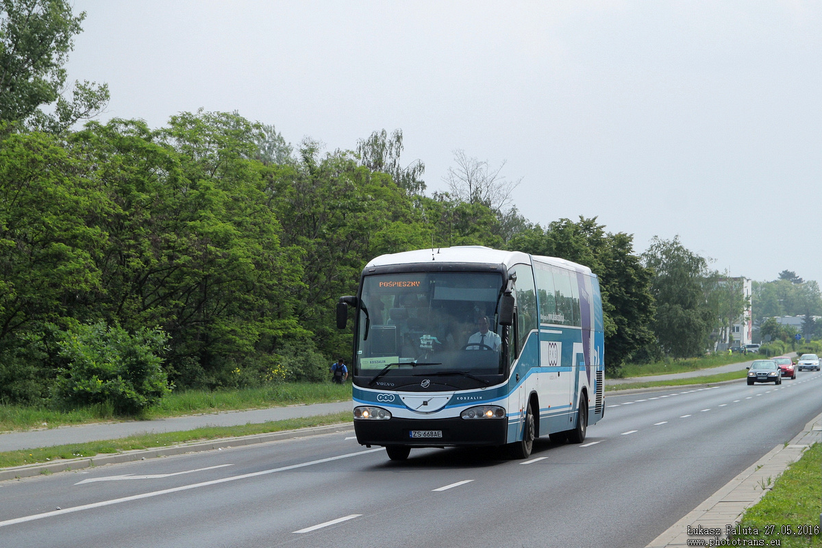
POLYGON ((235 438, 243 435, 270 434, 312 426, 326 426, 350 422, 351 412, 333 413, 316 417, 301 417, 285 421, 269 421, 245 426, 209 426, 183 432, 132 435, 121 440, 90 441, 83 444, 55 445, 39 449, 0 452, 0 468, 26 464, 53 463, 66 458, 94 457, 99 454, 116 454, 123 451, 156 449, 196 441, 235 438))

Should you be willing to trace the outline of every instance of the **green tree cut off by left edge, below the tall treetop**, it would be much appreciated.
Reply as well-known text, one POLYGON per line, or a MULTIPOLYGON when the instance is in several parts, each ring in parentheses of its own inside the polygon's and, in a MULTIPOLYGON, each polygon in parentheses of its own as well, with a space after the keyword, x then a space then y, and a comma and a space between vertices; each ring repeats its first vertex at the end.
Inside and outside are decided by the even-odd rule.
POLYGON ((99 222, 112 204, 87 165, 48 134, 0 140, 0 346, 46 322, 85 319, 81 302, 101 287, 99 222))

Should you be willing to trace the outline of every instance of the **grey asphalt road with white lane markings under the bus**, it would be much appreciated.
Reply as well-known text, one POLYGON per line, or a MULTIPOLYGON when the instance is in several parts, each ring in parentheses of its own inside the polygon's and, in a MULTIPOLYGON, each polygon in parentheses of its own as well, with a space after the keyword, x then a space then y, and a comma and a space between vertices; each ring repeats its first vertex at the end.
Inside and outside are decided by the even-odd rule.
POLYGON ((0 484, 0 546, 646 546, 822 412, 822 375, 609 395, 532 458, 353 432, 0 484))

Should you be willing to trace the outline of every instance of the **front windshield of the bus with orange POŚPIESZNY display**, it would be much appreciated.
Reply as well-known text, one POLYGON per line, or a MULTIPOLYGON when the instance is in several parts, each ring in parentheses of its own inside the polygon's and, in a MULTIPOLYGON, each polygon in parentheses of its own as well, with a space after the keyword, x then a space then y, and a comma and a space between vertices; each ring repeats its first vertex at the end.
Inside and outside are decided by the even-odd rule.
POLYGON ((506 371, 506 334, 496 319, 501 288, 502 276, 495 273, 366 276, 355 381, 368 385, 379 377, 388 381, 383 385, 401 388, 426 375, 442 389, 489 384, 482 375, 506 371))

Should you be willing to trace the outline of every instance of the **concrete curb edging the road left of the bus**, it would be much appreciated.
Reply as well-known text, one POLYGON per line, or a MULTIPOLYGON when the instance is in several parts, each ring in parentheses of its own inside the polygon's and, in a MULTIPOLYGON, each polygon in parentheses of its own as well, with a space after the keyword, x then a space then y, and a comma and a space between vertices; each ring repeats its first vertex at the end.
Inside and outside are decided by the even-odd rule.
POLYGON ((311 435, 326 435, 348 431, 353 431, 352 424, 339 423, 328 426, 301 428, 299 430, 272 432, 270 434, 247 435, 237 438, 220 438, 219 440, 171 445, 169 447, 159 447, 157 449, 136 449, 134 451, 125 451, 117 454, 98 454, 94 457, 65 458, 53 463, 36 463, 26 466, 2 468, 0 469, 0 481, 39 476, 41 474, 50 474, 53 472, 80 470, 81 468, 97 467, 104 464, 128 463, 136 460, 143 460, 145 458, 169 457, 170 455, 196 453, 198 451, 214 451, 215 449, 228 449, 229 447, 239 447, 242 445, 265 444, 270 441, 291 440, 293 438, 302 438, 311 435))

